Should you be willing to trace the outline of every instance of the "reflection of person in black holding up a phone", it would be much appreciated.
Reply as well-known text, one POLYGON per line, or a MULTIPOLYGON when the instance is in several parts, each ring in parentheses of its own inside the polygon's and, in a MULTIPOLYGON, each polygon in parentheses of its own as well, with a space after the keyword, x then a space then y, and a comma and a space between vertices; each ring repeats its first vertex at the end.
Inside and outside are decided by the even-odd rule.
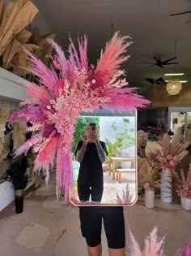
POLYGON ((96 123, 87 124, 82 141, 75 150, 77 161, 80 163, 78 176, 79 200, 100 202, 104 191, 102 163, 108 154, 104 141, 98 140, 96 123))

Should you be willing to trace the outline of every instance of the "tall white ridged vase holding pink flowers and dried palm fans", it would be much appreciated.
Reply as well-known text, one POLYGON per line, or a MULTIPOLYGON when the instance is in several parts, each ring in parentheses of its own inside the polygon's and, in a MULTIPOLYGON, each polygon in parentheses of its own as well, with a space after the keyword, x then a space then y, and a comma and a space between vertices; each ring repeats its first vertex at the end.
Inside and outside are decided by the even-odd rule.
POLYGON ((172 202, 172 171, 165 169, 160 174, 160 199, 162 202, 172 202))

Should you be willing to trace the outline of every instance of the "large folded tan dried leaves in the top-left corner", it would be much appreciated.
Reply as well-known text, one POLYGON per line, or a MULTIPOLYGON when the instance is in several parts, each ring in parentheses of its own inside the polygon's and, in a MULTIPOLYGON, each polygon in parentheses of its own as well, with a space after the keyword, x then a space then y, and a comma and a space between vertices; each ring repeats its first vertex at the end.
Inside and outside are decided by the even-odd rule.
POLYGON ((38 13, 36 6, 28 0, 8 2, 4 7, 0 2, 0 65, 18 75, 23 75, 20 66, 26 66, 23 47, 35 50, 38 46, 28 44, 31 37, 26 27, 38 13))

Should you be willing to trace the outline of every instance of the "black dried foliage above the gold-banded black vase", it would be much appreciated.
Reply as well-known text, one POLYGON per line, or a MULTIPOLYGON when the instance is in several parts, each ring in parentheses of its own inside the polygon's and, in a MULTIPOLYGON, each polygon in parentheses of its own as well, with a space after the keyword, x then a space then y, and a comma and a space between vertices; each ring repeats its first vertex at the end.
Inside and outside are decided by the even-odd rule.
POLYGON ((10 167, 6 170, 7 181, 14 185, 14 189, 25 189, 30 181, 27 173, 27 156, 13 158, 10 167))

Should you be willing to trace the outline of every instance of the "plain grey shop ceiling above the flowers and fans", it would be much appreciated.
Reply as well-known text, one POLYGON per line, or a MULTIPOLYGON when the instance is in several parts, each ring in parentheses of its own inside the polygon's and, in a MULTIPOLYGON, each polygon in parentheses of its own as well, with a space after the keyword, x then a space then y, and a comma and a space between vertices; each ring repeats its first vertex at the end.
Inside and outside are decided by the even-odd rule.
MULTIPOLYGON (((191 11, 190 0, 33 0, 45 15, 57 40, 67 49, 68 34, 75 40, 86 33, 89 38, 90 62, 100 57, 100 49, 120 30, 133 38, 129 46, 129 61, 125 65, 130 85, 147 87, 144 78, 157 79, 165 72, 173 72, 174 65, 148 67, 142 62, 153 62, 176 56, 180 64, 176 72, 185 72, 184 80, 191 83, 191 13, 170 16, 173 13, 191 11)), ((164 78, 164 77, 163 77, 164 78)), ((181 77, 182 78, 182 77, 181 77)))

